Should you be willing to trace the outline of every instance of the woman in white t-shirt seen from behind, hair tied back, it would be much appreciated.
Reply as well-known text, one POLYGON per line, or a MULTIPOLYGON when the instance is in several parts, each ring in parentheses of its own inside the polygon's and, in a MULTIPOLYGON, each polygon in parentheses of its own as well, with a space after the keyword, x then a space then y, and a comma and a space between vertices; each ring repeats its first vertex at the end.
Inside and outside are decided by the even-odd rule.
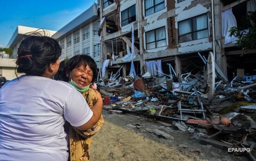
POLYGON ((101 117, 102 99, 90 108, 71 85, 51 79, 58 71, 60 45, 30 35, 18 48, 17 72, 0 89, 0 160, 67 161, 64 123, 87 130, 101 117))

